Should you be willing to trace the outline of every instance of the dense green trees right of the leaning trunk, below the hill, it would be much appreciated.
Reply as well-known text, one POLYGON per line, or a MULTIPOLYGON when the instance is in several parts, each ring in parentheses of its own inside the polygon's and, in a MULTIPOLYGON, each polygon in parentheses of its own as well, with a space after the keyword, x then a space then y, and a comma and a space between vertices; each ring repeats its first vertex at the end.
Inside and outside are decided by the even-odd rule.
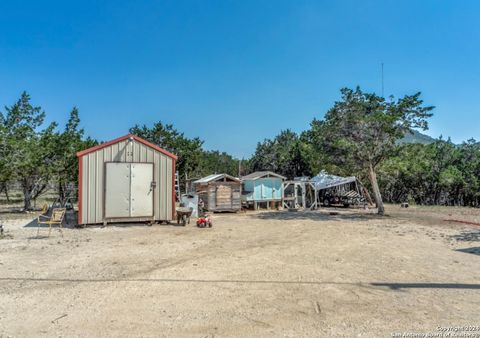
POLYGON ((403 144, 378 168, 379 186, 389 202, 468 205, 480 203, 480 144, 442 138, 430 144, 403 144))

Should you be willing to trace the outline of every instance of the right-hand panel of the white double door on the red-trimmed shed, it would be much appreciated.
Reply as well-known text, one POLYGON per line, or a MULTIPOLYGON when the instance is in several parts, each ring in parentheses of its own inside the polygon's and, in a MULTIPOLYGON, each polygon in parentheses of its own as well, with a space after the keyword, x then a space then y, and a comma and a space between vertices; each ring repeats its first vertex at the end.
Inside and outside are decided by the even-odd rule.
POLYGON ((132 163, 131 217, 153 216, 153 163, 132 163))

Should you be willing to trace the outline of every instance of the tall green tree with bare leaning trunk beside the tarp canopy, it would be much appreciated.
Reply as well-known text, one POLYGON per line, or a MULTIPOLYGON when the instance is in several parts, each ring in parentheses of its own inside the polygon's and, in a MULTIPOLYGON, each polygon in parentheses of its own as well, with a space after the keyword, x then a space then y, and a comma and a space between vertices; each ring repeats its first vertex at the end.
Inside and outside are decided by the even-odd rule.
POLYGON ((335 161, 366 169, 378 213, 385 212, 376 168, 411 129, 427 129, 431 106, 422 106, 420 93, 387 101, 373 93, 343 88, 341 101, 326 113, 324 121, 312 122, 323 134, 323 145, 335 161))

